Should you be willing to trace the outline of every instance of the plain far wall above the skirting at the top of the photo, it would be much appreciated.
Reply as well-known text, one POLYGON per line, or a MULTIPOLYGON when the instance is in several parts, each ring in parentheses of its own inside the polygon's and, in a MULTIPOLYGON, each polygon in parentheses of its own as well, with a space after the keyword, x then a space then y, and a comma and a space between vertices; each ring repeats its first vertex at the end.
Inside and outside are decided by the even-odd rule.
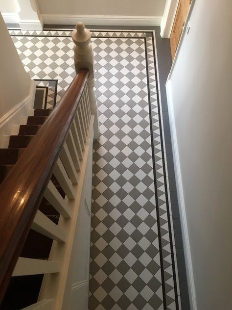
POLYGON ((165 0, 38 0, 41 14, 162 16, 165 0))

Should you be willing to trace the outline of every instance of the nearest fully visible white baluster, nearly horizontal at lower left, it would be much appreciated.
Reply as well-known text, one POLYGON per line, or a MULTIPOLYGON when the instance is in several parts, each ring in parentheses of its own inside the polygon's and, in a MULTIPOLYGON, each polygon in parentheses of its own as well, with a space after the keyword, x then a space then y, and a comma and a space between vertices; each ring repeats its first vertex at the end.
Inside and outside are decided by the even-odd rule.
POLYGON ((57 273, 61 262, 20 257, 15 266, 13 277, 57 273))

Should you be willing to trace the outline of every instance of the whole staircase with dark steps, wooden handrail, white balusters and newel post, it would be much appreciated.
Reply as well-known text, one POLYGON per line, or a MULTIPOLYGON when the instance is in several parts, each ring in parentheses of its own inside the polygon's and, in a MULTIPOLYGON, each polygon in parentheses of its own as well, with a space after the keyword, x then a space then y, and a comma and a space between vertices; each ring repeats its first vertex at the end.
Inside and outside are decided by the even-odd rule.
POLYGON ((99 122, 90 31, 79 23, 72 38, 77 75, 59 104, 34 109, 0 149, 1 310, 88 309, 99 122))

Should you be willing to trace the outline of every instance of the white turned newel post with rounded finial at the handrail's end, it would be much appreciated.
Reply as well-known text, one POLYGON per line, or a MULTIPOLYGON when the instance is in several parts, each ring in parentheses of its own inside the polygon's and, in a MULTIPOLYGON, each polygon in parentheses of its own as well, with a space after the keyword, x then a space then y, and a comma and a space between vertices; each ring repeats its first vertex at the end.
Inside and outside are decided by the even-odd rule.
POLYGON ((76 29, 71 34, 72 41, 74 42, 74 63, 76 73, 81 68, 88 68, 90 70, 90 77, 87 83, 91 113, 94 114, 94 139, 99 139, 99 121, 96 96, 93 90, 94 87, 94 60, 93 60, 93 47, 90 43, 91 33, 90 30, 85 28, 83 23, 77 23, 76 29))

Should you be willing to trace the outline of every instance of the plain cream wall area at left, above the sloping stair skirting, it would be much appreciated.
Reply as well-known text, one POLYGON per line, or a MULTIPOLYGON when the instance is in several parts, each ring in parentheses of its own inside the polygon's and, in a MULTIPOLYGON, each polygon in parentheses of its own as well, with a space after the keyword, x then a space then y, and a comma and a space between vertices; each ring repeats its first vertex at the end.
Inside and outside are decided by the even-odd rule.
POLYGON ((26 73, 10 34, 0 14, 0 118, 22 102, 31 90, 26 73))

